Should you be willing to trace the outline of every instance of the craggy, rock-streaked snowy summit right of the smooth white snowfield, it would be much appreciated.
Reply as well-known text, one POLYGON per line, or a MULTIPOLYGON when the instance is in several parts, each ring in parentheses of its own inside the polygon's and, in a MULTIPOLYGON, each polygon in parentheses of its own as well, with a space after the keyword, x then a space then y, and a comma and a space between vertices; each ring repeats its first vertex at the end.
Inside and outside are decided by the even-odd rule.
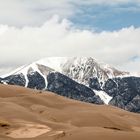
POLYGON ((116 70, 109 65, 108 67, 106 66, 105 64, 100 64, 92 57, 73 57, 67 59, 61 65, 61 72, 84 85, 88 85, 89 79, 93 77, 97 77, 99 83, 102 85, 109 78, 129 74, 116 70))

